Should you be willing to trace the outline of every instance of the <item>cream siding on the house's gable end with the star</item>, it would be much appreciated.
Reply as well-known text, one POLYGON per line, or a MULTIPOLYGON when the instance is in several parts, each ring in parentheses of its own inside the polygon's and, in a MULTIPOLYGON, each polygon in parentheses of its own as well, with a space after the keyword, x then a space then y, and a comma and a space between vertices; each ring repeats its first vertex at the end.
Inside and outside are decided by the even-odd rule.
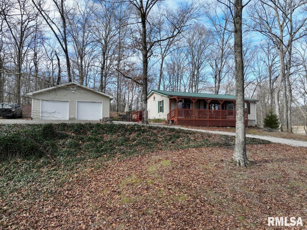
POLYGON ((158 93, 153 93, 147 98, 148 119, 167 119, 169 113, 169 98, 158 93), (155 100, 153 100, 155 97, 155 100), (163 113, 158 113, 158 101, 163 100, 163 113))

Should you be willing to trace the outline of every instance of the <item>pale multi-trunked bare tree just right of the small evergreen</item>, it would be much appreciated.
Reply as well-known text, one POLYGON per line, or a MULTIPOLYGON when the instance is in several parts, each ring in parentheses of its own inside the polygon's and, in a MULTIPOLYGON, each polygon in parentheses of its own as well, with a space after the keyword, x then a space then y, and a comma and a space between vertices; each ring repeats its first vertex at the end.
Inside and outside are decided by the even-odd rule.
POLYGON ((304 30, 307 25, 306 16, 301 14, 295 17, 294 12, 300 11, 305 4, 306 1, 261 0, 255 2, 249 10, 251 20, 255 22, 249 24, 251 29, 269 38, 278 49, 279 80, 274 94, 276 114, 281 120, 279 92, 282 87, 284 126, 285 131, 290 132, 292 131, 290 82, 292 46, 295 41, 307 34, 304 30))

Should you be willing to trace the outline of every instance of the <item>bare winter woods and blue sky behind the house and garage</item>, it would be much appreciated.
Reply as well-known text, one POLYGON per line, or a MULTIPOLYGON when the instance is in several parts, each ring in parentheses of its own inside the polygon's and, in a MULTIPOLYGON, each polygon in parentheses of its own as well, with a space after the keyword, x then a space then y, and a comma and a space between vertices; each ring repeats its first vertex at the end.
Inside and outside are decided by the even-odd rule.
MULTIPOLYGON (((255 0, 243 10, 245 96, 259 100, 259 127, 270 110, 284 131, 307 126, 306 3, 255 0)), ((235 95, 234 24, 225 4, 233 7, 1 0, 0 101, 28 105, 28 92, 75 81, 114 96, 111 111, 126 102, 141 110, 144 58, 147 92, 235 95)))

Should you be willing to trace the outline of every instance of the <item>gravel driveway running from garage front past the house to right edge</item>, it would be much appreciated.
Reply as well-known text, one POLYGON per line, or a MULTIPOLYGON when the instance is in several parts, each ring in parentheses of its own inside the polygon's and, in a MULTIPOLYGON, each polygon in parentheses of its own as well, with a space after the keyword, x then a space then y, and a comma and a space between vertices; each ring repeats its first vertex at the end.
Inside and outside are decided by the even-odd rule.
MULTIPOLYGON (((72 121, 72 120, 27 120, 27 119, 10 119, 10 118, 0 118, 0 124, 47 124, 47 123, 99 123, 99 121, 86 121, 86 120, 78 120, 78 121, 72 121)), ((115 124, 141 124, 141 123, 135 123, 135 122, 118 122, 114 121, 115 124)), ((222 131, 209 131, 209 130, 202 130, 202 129, 190 129, 185 128, 181 126, 166 126, 163 124, 149 124, 151 126, 157 126, 157 127, 165 127, 165 128, 175 128, 175 129, 185 129, 185 130, 191 130, 191 131, 197 131, 197 132, 204 132, 204 133, 213 133, 213 134, 222 134, 222 135, 229 135, 229 136, 235 136, 235 133, 233 132, 222 132, 222 131)), ((290 146, 302 146, 307 147, 307 141, 299 141, 299 140, 293 140, 293 139, 286 139, 286 138, 278 138, 278 137, 271 137, 271 136, 261 136, 261 135, 253 135, 253 134, 246 134, 246 137, 251 138, 258 138, 262 140, 268 140, 274 143, 282 143, 290 146)))

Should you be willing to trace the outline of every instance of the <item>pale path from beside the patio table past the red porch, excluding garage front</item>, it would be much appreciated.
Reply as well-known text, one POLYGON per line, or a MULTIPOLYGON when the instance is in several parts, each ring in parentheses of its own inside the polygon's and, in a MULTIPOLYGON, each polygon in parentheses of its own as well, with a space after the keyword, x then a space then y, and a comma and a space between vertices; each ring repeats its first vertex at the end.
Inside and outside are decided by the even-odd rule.
MULTIPOLYGON (((116 121, 114 123, 135 124, 134 122, 116 122, 116 121)), ((138 124, 141 124, 141 123, 138 123, 138 124)), ((234 132, 210 131, 210 130, 203 130, 203 129, 190 129, 190 128, 185 128, 185 127, 176 126, 176 125, 168 126, 168 125, 163 125, 163 124, 159 124, 159 123, 150 123, 149 126, 184 129, 184 130, 190 130, 190 131, 196 131, 196 132, 235 136, 234 132)), ((290 145, 290 146, 296 146, 296 147, 300 147, 300 146, 301 147, 307 147, 307 141, 299 141, 299 140, 278 138, 278 137, 272 137, 272 136, 261 136, 261 135, 254 135, 254 134, 246 134, 246 137, 257 138, 257 139, 267 140, 267 141, 274 142, 274 143, 282 143, 282 144, 286 144, 286 145, 290 145)))

